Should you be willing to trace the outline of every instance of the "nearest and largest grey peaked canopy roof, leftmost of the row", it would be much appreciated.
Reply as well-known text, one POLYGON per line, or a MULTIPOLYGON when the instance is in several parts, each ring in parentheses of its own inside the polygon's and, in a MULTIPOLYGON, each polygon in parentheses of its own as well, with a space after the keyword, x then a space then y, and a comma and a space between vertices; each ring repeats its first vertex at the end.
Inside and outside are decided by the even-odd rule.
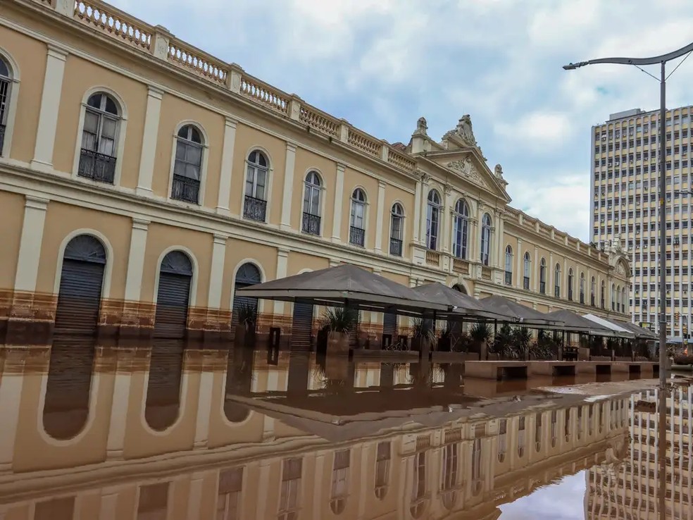
POLYGON ((349 264, 242 287, 236 294, 284 302, 301 300, 330 307, 353 303, 360 309, 397 310, 415 316, 450 310, 447 304, 423 301, 420 294, 401 283, 349 264))

